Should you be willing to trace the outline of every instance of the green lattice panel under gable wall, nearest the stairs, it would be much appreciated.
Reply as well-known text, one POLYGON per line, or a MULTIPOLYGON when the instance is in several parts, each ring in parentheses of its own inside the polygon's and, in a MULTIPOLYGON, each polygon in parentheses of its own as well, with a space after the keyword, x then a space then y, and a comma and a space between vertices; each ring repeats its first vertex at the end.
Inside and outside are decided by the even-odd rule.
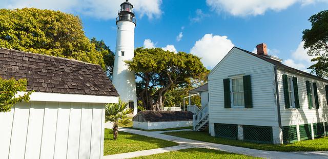
POLYGON ((235 124, 214 124, 215 136, 238 139, 238 126, 235 124))

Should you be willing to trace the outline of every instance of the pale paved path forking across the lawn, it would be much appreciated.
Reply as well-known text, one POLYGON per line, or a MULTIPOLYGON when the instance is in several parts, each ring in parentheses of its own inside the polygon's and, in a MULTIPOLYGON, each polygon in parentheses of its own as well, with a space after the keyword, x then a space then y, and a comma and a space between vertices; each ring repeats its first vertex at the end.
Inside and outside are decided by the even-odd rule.
MULTIPOLYGON (((317 151, 317 152, 263 151, 263 150, 255 150, 255 149, 249 149, 249 148, 243 148, 243 147, 201 142, 201 141, 190 140, 187 138, 181 138, 181 137, 161 134, 162 132, 169 132, 169 131, 141 131, 141 130, 135 130, 135 129, 129 129, 129 128, 119 128, 119 131, 160 138, 162 140, 176 142, 180 145, 174 146, 174 147, 168 147, 168 148, 160 148, 160 149, 152 149, 152 150, 144 150, 144 151, 136 151, 136 152, 115 154, 115 155, 108 155, 108 156, 104 156, 105 159, 145 156, 145 155, 163 153, 163 152, 168 152, 168 151, 176 151, 176 150, 186 149, 186 148, 210 148, 210 149, 216 149, 216 150, 221 150, 221 151, 226 151, 226 152, 239 153, 239 154, 245 154, 245 155, 250 155, 250 156, 265 157, 265 158, 293 158, 293 159, 295 159, 295 158, 297 158, 297 159, 299 159, 299 158, 328 158, 328 151, 322 151, 322 152, 321 151, 317 151)), ((173 130, 173 131, 183 131, 183 130, 173 130)))

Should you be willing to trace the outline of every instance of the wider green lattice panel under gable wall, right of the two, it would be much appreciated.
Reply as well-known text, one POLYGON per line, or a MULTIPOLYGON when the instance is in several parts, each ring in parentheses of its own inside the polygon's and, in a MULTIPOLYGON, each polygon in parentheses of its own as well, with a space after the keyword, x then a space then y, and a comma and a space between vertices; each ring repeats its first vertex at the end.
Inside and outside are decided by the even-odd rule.
POLYGON ((243 126, 244 141, 255 143, 273 143, 272 127, 243 126))

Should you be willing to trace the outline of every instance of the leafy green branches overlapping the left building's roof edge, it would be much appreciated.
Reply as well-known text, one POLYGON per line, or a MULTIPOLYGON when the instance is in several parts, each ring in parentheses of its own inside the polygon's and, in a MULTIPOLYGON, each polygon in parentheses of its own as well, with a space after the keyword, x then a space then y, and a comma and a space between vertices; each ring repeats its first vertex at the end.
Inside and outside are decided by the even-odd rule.
POLYGON ((25 92, 26 86, 26 79, 19 79, 16 81, 14 78, 7 80, 0 77, 0 112, 10 111, 16 103, 23 101, 28 102, 30 100, 29 95, 32 92, 15 97, 18 91, 25 92))

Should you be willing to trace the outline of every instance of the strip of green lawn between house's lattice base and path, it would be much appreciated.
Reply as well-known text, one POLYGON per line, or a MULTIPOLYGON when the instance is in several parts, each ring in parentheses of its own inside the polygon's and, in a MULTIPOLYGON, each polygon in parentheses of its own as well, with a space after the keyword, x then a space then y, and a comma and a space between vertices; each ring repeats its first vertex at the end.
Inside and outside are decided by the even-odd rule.
POLYGON ((210 142, 223 145, 232 145, 238 147, 246 147, 258 150, 269 151, 328 151, 328 137, 316 138, 315 140, 305 140, 286 145, 273 145, 273 144, 258 144, 251 142, 244 142, 238 140, 229 140, 226 138, 213 137, 208 132, 195 132, 195 131, 178 131, 178 132, 165 132, 164 134, 189 138, 203 142, 210 142))

